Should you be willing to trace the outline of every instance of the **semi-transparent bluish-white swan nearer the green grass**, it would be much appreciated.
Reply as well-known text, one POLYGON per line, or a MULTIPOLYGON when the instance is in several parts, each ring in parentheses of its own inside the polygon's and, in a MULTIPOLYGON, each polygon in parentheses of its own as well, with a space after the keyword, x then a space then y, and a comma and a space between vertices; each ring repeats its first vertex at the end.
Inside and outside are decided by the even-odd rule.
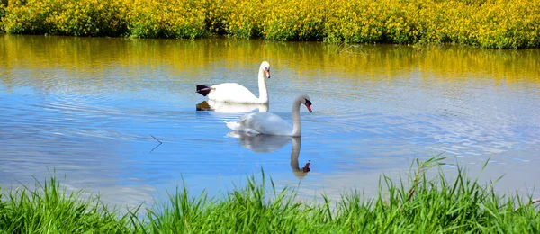
POLYGON ((293 127, 279 116, 271 112, 247 113, 238 121, 229 121, 227 127, 231 130, 245 131, 253 134, 268 134, 278 136, 302 136, 302 125, 300 123, 300 104, 305 104, 311 112, 310 96, 301 94, 293 102, 293 127))

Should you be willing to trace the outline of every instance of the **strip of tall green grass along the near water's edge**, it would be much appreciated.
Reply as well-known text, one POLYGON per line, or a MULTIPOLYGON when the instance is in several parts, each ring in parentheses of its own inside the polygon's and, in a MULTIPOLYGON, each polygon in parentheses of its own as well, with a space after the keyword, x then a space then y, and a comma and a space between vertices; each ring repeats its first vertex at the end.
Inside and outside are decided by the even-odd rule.
POLYGON ((457 166, 452 182, 440 165, 445 157, 416 161, 409 179, 382 176, 380 193, 367 199, 344 193, 305 201, 296 188, 275 189, 262 173, 220 198, 177 189, 169 201, 120 215, 99 197, 67 193, 52 176, 45 184, 0 193, 0 233, 539 233, 540 215, 531 198, 500 196, 457 166), (426 172, 439 168, 434 178, 426 172), (266 183, 270 184, 266 184, 266 183), (408 184, 408 185, 406 185, 408 184), (266 188, 270 191, 266 191, 266 188), (527 202, 522 202, 523 200, 527 202))

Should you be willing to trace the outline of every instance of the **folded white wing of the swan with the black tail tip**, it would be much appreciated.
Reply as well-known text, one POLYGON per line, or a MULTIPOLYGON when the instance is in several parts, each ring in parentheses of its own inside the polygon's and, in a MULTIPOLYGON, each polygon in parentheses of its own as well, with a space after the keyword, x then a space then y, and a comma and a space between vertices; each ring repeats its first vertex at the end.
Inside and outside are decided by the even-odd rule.
POLYGON ((237 83, 223 83, 211 86, 210 100, 225 103, 258 103, 258 98, 245 86, 237 83))

